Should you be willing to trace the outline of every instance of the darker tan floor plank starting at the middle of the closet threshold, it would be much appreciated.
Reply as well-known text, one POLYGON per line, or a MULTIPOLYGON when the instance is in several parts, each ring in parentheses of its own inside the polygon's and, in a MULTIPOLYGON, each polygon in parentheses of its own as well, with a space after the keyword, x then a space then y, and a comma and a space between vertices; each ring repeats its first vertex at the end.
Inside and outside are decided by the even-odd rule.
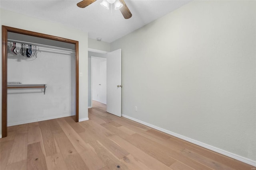
POLYGON ((40 127, 40 130, 42 133, 43 144, 44 144, 46 156, 56 154, 57 150, 55 147, 54 138, 52 135, 52 130, 51 130, 49 121, 40 121, 39 127, 40 127))

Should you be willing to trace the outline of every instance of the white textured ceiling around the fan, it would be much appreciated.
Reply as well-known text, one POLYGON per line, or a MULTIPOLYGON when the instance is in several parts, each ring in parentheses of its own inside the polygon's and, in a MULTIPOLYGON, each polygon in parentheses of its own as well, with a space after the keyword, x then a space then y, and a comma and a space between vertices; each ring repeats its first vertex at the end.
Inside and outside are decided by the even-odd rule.
POLYGON ((88 37, 112 42, 180 8, 185 0, 125 0, 132 18, 124 19, 120 10, 106 10, 102 0, 78 8, 80 0, 0 0, 0 8, 62 23, 88 32, 88 37))

